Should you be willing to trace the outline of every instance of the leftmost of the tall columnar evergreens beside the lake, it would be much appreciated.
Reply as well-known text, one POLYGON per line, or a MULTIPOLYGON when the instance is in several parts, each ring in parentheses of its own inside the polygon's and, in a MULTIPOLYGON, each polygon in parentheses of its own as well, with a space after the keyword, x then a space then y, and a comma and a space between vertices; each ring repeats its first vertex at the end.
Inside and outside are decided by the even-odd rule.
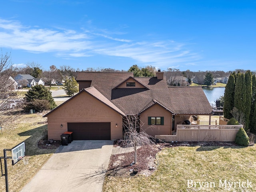
POLYGON ((232 118, 230 111, 234 108, 234 94, 235 94, 235 77, 234 74, 230 74, 228 82, 226 84, 224 92, 224 117, 227 119, 232 118))

